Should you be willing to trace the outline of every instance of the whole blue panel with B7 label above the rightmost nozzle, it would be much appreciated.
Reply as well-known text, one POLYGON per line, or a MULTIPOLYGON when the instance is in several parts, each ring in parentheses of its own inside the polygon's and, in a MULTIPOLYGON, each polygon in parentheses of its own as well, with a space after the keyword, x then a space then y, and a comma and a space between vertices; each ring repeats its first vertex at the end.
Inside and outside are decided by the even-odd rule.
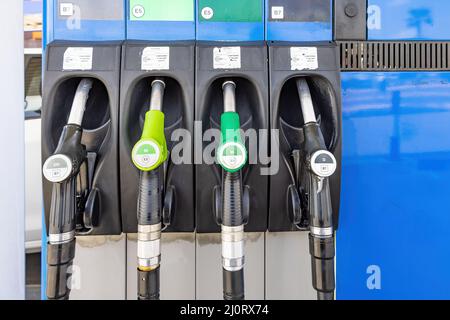
POLYGON ((267 41, 331 41, 332 0, 266 0, 267 41))

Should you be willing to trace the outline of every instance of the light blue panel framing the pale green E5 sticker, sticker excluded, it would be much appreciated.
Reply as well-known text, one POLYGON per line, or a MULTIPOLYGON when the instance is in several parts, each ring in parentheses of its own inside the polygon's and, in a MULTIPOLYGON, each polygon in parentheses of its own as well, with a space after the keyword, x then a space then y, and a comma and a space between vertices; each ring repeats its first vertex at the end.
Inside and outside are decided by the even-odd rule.
MULTIPOLYGON (((195 0, 192 0, 194 3, 195 0)), ((195 6, 193 5, 195 17, 195 6)), ((136 21, 130 19, 130 0, 126 0, 127 39, 177 41, 195 40, 195 20, 192 21, 136 21)))

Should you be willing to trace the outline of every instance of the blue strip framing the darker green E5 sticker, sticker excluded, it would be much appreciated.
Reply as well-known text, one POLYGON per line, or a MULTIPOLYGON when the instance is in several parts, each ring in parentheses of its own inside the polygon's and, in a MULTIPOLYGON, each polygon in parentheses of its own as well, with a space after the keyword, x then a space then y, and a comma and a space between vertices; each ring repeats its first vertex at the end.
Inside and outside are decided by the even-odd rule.
MULTIPOLYGON (((201 41, 263 41, 264 5, 260 22, 208 22, 200 21, 199 0, 196 0, 196 39, 201 41)), ((261 0, 263 1, 263 0, 261 0)), ((263 2, 262 2, 263 3, 263 2)))

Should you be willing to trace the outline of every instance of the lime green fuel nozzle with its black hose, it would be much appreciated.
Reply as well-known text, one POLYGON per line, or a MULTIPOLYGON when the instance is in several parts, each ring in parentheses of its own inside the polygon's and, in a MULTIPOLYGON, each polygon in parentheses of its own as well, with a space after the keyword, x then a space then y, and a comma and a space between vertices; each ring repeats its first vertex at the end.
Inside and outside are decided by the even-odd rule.
POLYGON ((139 300, 159 299, 164 162, 168 157, 162 112, 165 83, 157 79, 151 86, 150 110, 141 139, 132 150, 133 163, 141 171, 137 208, 139 300))

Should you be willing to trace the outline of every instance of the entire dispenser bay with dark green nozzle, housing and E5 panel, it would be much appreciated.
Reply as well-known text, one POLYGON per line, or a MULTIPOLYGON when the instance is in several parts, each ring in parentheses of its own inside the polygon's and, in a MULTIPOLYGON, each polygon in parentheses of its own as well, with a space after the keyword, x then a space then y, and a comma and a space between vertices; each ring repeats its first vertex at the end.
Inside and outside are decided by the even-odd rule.
POLYGON ((223 296, 240 300, 244 225, 267 229, 268 177, 249 146, 267 150, 268 142, 249 144, 240 134, 268 129, 264 1, 197 1, 197 41, 196 226, 199 234, 221 232, 223 296))

